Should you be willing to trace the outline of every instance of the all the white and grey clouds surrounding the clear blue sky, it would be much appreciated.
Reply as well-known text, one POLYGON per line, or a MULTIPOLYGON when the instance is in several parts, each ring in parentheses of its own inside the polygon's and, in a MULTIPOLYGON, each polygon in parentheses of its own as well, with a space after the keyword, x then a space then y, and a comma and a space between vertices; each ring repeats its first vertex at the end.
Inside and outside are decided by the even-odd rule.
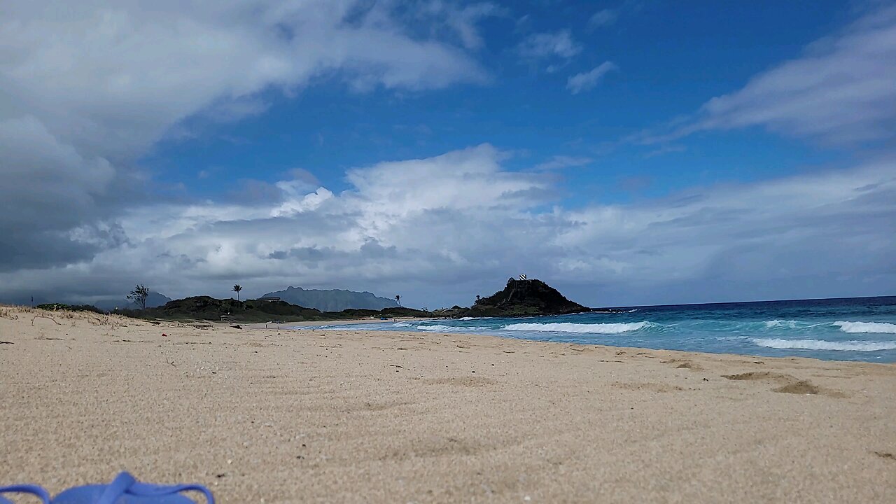
MULTIPOLYGON (((250 297, 349 288, 437 308, 521 273, 593 306, 896 294, 896 9, 707 97, 684 128, 642 137, 655 147, 763 126, 877 142, 796 175, 582 201, 564 170, 592 157, 538 163, 490 138, 344 169, 343 187, 306 166, 235 180, 228 197, 175 198, 160 187, 177 180, 142 169, 160 141, 201 135, 191 119, 262 117, 271 93, 290 99, 321 80, 404 94, 498 78, 478 56, 480 23, 508 9, 396 5, 13 2, 0 20, 0 301, 120 298, 137 282, 221 297, 240 283, 250 297)), ((583 48, 555 30, 506 51, 551 63, 549 74, 583 48)), ((614 69, 571 70, 558 91, 597 93, 614 69)))

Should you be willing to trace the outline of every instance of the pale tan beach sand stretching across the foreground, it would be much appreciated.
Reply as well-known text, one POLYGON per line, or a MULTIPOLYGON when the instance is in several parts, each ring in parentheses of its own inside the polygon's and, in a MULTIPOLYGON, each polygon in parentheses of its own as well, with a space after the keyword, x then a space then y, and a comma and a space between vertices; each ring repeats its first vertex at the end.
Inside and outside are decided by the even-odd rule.
POLYGON ((0 484, 127 469, 236 503, 896 501, 893 365, 201 326, 0 308, 0 484))

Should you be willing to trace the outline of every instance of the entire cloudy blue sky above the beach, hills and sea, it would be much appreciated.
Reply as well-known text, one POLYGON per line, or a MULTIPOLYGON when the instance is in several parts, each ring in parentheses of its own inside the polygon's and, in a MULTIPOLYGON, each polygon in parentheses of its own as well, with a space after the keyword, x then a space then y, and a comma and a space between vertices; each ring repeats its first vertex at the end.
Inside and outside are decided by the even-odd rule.
POLYGON ((896 294, 896 4, 0 4, 0 302, 896 294))

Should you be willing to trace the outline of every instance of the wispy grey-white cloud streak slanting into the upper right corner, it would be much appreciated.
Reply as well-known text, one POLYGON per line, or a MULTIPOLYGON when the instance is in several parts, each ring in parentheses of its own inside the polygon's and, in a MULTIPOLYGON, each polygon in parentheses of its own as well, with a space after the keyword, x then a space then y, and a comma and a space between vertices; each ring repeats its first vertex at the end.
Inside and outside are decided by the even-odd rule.
POLYGON ((896 134, 896 6, 878 9, 816 41, 797 59, 708 101, 685 126, 647 142, 698 131, 763 126, 835 145, 896 134))

